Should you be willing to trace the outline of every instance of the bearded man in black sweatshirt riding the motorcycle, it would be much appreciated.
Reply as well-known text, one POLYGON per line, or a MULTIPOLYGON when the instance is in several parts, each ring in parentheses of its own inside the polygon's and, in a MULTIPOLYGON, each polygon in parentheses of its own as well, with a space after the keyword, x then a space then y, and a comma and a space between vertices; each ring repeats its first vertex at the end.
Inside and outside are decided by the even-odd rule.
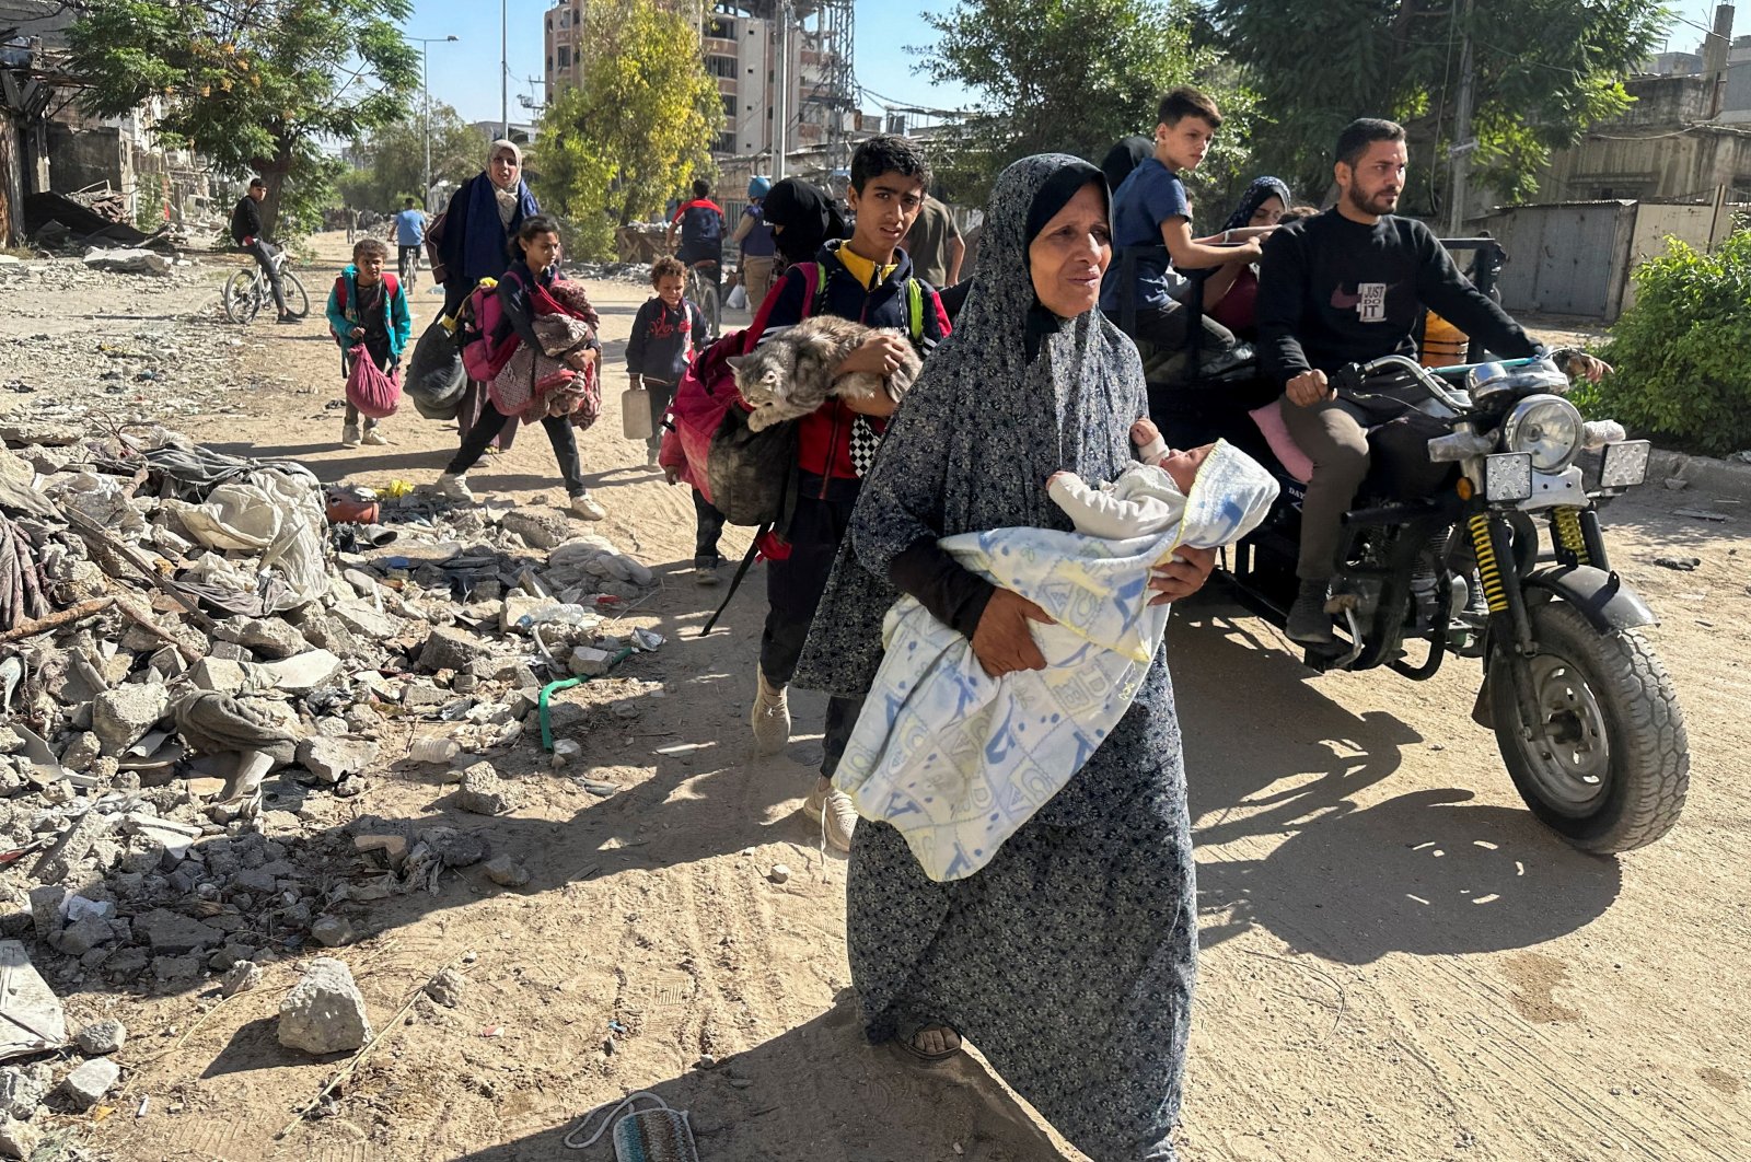
MULTIPOLYGON (((1306 646, 1333 646, 1326 612, 1345 511, 1369 466, 1369 436, 1385 457, 1401 497, 1427 495, 1448 466, 1431 464, 1427 432, 1413 416, 1373 415, 1336 397, 1327 373, 1382 355, 1417 355, 1413 329, 1432 308, 1502 357, 1529 357, 1537 345, 1508 313, 1453 266, 1427 226, 1397 217, 1404 189, 1404 130, 1361 117, 1338 136, 1338 205, 1278 228, 1259 270, 1259 360, 1283 388, 1283 424, 1313 462, 1301 504, 1301 584, 1285 632, 1306 646)), ((1609 371, 1576 354, 1571 374, 1609 371)))

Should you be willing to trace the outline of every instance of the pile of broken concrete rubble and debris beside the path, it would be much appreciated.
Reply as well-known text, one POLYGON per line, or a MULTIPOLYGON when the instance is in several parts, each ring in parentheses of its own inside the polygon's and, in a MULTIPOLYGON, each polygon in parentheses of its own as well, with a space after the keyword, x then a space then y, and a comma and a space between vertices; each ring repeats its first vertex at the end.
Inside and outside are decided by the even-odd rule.
MULTIPOLYGON (((266 961, 350 943, 359 905, 436 889, 447 870, 527 882, 480 833, 340 826, 336 800, 406 747, 459 782, 455 807, 511 810, 490 756, 581 726, 576 704, 538 709, 541 688, 662 644, 608 632, 650 570, 559 513, 336 497, 298 464, 156 425, 26 422, 0 439, 12 982, 245 987, 266 961), (359 514, 376 523, 331 523, 359 514)), ((0 990, 0 1060, 67 1043, 47 987, 0 990), (9 1027, 28 1031, 11 1050, 9 1027)), ((60 1080, 0 1069, 0 1113, 98 1101, 116 1064, 91 1057, 60 1080)))

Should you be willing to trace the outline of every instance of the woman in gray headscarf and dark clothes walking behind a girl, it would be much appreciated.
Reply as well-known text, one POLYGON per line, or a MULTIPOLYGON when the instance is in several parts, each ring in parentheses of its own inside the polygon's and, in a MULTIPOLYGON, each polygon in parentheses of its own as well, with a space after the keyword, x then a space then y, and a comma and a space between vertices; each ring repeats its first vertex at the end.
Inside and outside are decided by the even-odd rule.
MULTIPOLYGON (((494 142, 487 147, 487 168, 457 186, 443 214, 438 252, 445 264, 447 317, 455 315, 482 278, 497 278, 518 257, 511 254, 511 238, 522 229, 524 219, 536 214, 541 214, 541 205, 524 182, 524 150, 517 142, 494 142)), ((485 404, 487 385, 471 380, 457 413, 461 436, 468 436, 485 404)), ((515 434, 517 425, 506 425, 497 436, 497 448, 510 448, 515 434)))

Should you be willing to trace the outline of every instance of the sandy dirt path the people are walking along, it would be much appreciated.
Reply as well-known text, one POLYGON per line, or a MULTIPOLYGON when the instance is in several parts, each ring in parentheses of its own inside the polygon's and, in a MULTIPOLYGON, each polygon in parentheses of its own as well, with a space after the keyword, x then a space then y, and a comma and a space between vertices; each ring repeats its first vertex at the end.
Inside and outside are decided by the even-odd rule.
MULTIPOLYGON (((334 240, 322 242, 333 259, 334 240)), ((692 640, 713 592, 683 569, 690 504, 632 467, 643 457, 620 439, 615 355, 644 292, 592 294, 611 374, 583 460, 611 513, 604 532, 662 576, 634 623, 671 639, 590 695, 602 712, 585 761, 623 789, 592 798, 532 752, 506 765, 527 805, 487 831, 532 882, 506 891, 462 873, 438 894, 385 900, 373 934, 341 950, 380 1029, 436 968, 475 952, 461 1006, 415 1004, 333 1116, 284 1139, 292 1108, 338 1064, 291 1062, 273 1041, 296 959, 219 1008, 205 990, 75 998, 133 1029, 126 1096, 93 1130, 105 1157, 606 1158, 560 1139, 585 1110, 641 1088, 692 1110, 709 1162, 1079 1157, 977 1068, 919 1073, 861 1043, 844 863, 823 864, 797 814, 819 704, 802 702, 788 754, 749 756, 758 576, 727 632, 692 640), (662 696, 639 693, 650 682, 662 696), (620 702, 637 716, 613 714, 620 702), (783 886, 767 878, 776 863, 793 870, 783 886), (695 1068, 702 1054, 720 1064, 695 1068), (151 1110, 133 1120, 142 1096, 151 1110)), ((417 317, 436 301, 422 292, 417 317)), ((425 483, 454 448, 452 429, 411 411, 389 422, 394 446, 338 448, 322 327, 257 324, 243 338, 256 387, 240 413, 179 427, 362 483, 425 483)), ((473 480, 518 504, 564 499, 532 430, 473 480)), ((1695 754, 1683 824, 1623 859, 1572 852, 1520 807, 1494 738, 1469 721, 1471 663, 1425 684, 1313 677, 1219 592, 1175 616, 1205 947, 1184 1158, 1746 1157, 1751 514, 1672 514, 1698 504, 1714 502, 1644 490, 1607 513, 1616 564, 1663 618, 1649 635, 1695 754), (1651 564, 1669 551, 1702 567, 1651 564)), ((742 544, 732 532, 727 551, 742 544)), ((443 791, 392 766, 345 810, 438 817, 443 791)))

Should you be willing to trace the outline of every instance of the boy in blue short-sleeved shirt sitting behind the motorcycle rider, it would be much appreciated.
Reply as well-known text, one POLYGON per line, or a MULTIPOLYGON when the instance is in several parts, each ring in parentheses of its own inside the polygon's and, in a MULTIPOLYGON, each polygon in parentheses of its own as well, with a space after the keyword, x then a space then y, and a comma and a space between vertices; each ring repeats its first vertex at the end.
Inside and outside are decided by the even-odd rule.
MULTIPOLYGON (((1252 229, 1192 238, 1192 206, 1178 170, 1196 170, 1222 124, 1215 102, 1180 88, 1161 98, 1154 156, 1140 163, 1112 196, 1114 262, 1101 284, 1101 312, 1133 340, 1177 352, 1185 346, 1191 313, 1180 299, 1182 270, 1259 261, 1252 229), (1238 245, 1229 245, 1238 243, 1238 245)), ((1234 332, 1203 318, 1203 346, 1213 348, 1205 373, 1248 359, 1234 332)))

